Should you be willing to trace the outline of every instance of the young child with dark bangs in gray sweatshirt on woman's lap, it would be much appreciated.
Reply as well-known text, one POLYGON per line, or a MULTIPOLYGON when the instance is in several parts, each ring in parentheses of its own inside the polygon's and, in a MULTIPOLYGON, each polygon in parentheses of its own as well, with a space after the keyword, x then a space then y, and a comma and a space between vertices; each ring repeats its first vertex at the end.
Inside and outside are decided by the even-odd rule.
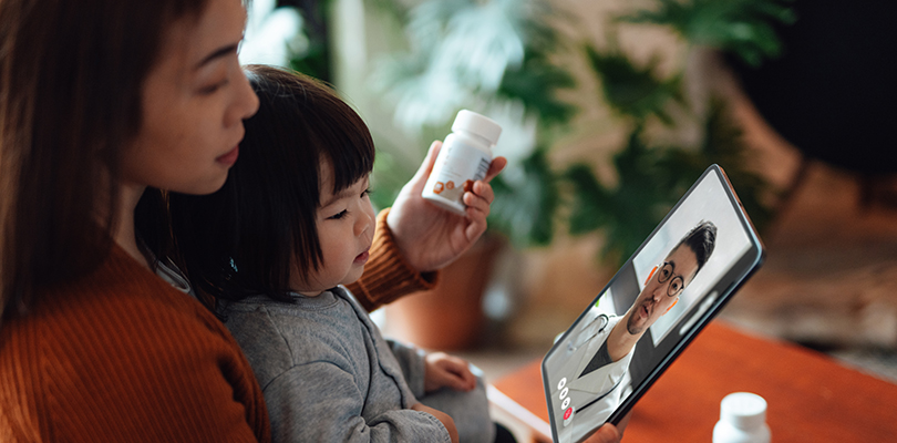
POLYGON ((269 66, 247 75, 260 109, 228 182, 171 205, 190 281, 220 301, 264 390, 274 441, 457 442, 461 431, 491 442, 467 362, 385 341, 341 286, 361 276, 375 225, 367 126, 312 79, 269 66), (442 388, 454 390, 460 430, 419 401, 442 388))

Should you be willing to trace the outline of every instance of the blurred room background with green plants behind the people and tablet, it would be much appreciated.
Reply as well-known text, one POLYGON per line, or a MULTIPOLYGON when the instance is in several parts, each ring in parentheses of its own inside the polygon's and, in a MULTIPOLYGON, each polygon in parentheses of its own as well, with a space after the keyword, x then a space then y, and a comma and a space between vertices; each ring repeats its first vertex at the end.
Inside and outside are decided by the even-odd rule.
POLYGON ((897 17, 869 0, 254 0, 240 58, 334 85, 386 207, 461 109, 504 128, 489 230, 388 334, 542 358, 710 164, 767 247, 721 313, 897 382, 897 17))

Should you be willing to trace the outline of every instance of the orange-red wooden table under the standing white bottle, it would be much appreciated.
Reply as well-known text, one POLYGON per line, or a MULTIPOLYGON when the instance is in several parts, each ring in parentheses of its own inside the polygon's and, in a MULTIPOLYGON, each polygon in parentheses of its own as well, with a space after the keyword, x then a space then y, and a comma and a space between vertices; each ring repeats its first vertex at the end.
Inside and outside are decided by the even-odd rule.
MULTIPOLYGON (((738 391, 766 399, 776 443, 897 442, 897 384, 720 321, 639 400, 623 442, 710 442, 720 401, 738 391)), ((551 441, 539 361, 497 380, 491 399, 530 425, 536 441, 551 441)))

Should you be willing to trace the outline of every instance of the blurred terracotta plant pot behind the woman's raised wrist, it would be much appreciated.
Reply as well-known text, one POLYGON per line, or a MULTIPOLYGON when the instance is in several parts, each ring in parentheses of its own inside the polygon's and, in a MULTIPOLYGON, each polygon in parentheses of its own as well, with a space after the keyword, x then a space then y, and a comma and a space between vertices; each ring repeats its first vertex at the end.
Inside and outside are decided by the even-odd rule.
POLYGON ((439 286, 384 308, 388 336, 429 350, 461 350, 483 333, 483 291, 503 241, 483 236, 467 253, 442 270, 439 286))

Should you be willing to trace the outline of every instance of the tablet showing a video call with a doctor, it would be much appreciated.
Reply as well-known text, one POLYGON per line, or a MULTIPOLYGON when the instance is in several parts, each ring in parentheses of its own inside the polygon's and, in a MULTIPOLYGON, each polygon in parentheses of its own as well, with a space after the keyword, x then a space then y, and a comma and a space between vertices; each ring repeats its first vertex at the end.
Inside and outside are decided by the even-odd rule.
POLYGON ((616 424, 763 256, 725 173, 710 166, 545 356, 554 441, 616 424))

